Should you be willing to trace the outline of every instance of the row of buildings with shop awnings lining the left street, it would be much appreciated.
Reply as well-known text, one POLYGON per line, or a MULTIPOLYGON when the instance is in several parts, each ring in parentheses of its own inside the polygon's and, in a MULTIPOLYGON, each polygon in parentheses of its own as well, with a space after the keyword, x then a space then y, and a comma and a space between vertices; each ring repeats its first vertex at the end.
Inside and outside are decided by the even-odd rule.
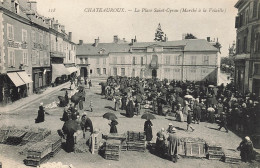
POLYGON ((56 79, 77 71, 72 34, 69 33, 69 37, 65 27, 61 26, 59 34, 53 37, 54 27, 49 20, 37 13, 35 1, 0 2, 0 104, 37 93, 39 89, 50 86, 53 77, 56 79), (63 70, 56 68, 53 71, 51 39, 59 43, 62 53, 59 61, 63 70), (69 66, 66 68, 64 63, 69 66), (61 72, 53 76, 56 71, 61 72))

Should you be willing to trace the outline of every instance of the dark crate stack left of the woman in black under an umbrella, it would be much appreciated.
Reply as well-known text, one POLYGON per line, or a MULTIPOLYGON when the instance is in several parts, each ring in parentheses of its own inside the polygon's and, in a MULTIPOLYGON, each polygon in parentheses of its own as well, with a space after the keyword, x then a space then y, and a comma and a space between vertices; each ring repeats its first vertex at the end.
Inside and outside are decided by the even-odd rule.
POLYGON ((127 135, 128 138, 126 143, 128 151, 145 152, 146 145, 144 132, 128 131, 127 135))

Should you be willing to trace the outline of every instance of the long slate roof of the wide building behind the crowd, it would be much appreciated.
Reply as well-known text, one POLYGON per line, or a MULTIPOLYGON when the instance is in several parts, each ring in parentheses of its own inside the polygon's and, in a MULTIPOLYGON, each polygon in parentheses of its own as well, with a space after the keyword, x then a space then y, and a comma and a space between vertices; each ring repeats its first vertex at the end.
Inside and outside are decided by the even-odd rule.
POLYGON ((131 48, 147 48, 153 46, 162 47, 184 47, 184 51, 215 51, 218 49, 204 39, 186 39, 167 42, 136 42, 133 45, 123 43, 93 43, 77 45, 77 55, 108 55, 110 52, 129 52, 131 48), (103 51, 103 52, 102 52, 103 51))

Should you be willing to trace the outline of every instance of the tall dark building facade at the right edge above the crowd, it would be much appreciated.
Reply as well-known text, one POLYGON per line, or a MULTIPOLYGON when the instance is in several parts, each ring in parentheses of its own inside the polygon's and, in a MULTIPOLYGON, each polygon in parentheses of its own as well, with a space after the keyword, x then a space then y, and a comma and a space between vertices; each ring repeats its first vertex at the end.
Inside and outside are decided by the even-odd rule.
POLYGON ((237 37, 235 84, 243 93, 260 95, 260 2, 239 0, 235 7, 237 37))

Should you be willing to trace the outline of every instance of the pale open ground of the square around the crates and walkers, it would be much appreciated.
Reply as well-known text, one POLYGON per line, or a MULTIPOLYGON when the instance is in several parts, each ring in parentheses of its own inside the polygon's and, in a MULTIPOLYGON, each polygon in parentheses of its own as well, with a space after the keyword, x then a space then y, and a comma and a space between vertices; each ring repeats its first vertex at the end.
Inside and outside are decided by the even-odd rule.
MULTIPOLYGON (((86 89, 87 91, 87 99, 84 102, 84 110, 89 109, 90 100, 93 101, 94 112, 86 111, 88 116, 93 122, 94 128, 99 128, 103 134, 108 134, 109 126, 108 120, 103 119, 102 115, 105 112, 113 112, 118 117, 119 125, 117 126, 119 133, 124 133, 128 130, 131 131, 143 131, 144 120, 140 118, 140 116, 134 116, 133 118, 126 118, 124 116, 125 111, 119 110, 114 111, 114 103, 112 101, 104 99, 103 96, 100 95, 100 85, 99 82, 102 79, 93 79, 93 87, 91 89, 86 89)), ((57 129, 61 129, 63 122, 60 121, 60 118, 63 113, 63 108, 56 107, 53 109, 46 109, 46 111, 50 115, 45 115, 45 122, 35 124, 34 119, 37 116, 37 110, 40 102, 43 102, 44 105, 50 104, 54 101, 58 101, 58 96, 64 96, 65 91, 62 88, 67 88, 68 86, 61 87, 58 91, 51 93, 49 96, 42 97, 36 99, 34 103, 28 105, 27 107, 17 110, 15 113, 5 114, 0 116, 0 126, 2 125, 15 125, 17 127, 36 127, 36 128, 48 128, 52 130, 52 132, 56 132, 57 129)), ((142 110, 142 113, 145 110, 142 110)), ((83 113, 84 111, 80 111, 83 113)), ((241 139, 236 136, 231 131, 226 133, 224 130, 218 131, 218 125, 210 124, 202 122, 200 124, 193 124, 195 131, 194 132, 186 132, 186 123, 174 121, 171 117, 163 117, 156 116, 155 120, 152 120, 153 123, 153 141, 155 142, 156 133, 162 127, 166 128, 169 122, 173 123, 173 125, 178 129, 178 135, 180 137, 199 137, 207 142, 221 144, 224 150, 232 150, 236 149, 239 145, 241 139)), ((20 146, 8 146, 8 145, 0 145, 0 161, 3 164, 15 165, 15 167, 24 167, 23 159, 25 156, 19 155, 18 150, 20 146), (7 159, 8 158, 8 159, 7 159)), ((239 155, 239 153, 237 153, 239 155)), ((189 159, 189 158, 180 158, 178 163, 172 163, 169 160, 159 158, 148 151, 145 153, 138 152, 122 152, 120 156, 120 161, 108 161, 103 159, 98 154, 90 154, 90 153, 66 153, 65 151, 60 151, 54 158, 51 158, 49 162, 62 162, 63 164, 72 164, 77 168, 88 168, 88 167, 183 167, 183 168, 191 168, 191 167, 214 167, 214 168, 222 168, 222 167, 260 167, 257 165, 258 163, 246 164, 240 163, 239 165, 227 164, 220 161, 212 161, 207 159, 189 159)), ((3 166, 5 167, 5 166, 3 166)), ((13 167, 13 166, 11 166, 13 167)))

